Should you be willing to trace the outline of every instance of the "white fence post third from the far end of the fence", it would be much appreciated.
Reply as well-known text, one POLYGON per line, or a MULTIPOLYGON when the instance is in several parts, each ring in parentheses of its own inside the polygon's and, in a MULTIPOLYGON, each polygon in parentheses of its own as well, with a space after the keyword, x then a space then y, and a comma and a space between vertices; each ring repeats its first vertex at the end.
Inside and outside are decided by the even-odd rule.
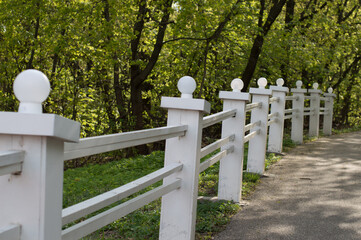
POLYGON ((303 143, 303 120, 304 120, 304 108, 305 108, 305 93, 306 89, 301 89, 302 81, 296 82, 297 88, 291 88, 293 93, 292 109, 296 109, 297 112, 292 113, 291 123, 291 140, 297 144, 303 143))

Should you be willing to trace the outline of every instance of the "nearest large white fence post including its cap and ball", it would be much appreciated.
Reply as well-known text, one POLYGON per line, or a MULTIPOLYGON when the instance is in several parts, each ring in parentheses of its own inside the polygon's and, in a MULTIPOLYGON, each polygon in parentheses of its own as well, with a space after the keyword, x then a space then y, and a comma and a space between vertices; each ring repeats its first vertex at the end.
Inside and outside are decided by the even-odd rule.
POLYGON ((0 176, 0 226, 21 225, 22 240, 60 240, 64 142, 79 141, 80 124, 42 114, 50 92, 37 70, 14 82, 19 112, 0 112, 0 152, 24 151, 22 171, 0 176))

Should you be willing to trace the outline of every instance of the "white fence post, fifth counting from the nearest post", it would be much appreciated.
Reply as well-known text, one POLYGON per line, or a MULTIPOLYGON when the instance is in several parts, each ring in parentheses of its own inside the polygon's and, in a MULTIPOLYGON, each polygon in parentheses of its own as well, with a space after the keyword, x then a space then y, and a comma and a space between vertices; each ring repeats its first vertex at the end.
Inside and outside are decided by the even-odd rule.
POLYGON ((271 114, 277 114, 276 122, 270 125, 269 137, 268 137, 268 152, 281 153, 283 145, 283 129, 284 129, 284 117, 286 106, 286 93, 289 89, 282 87, 284 80, 282 78, 277 79, 277 86, 271 86, 270 89, 273 92, 273 97, 277 97, 278 101, 271 104, 271 114))

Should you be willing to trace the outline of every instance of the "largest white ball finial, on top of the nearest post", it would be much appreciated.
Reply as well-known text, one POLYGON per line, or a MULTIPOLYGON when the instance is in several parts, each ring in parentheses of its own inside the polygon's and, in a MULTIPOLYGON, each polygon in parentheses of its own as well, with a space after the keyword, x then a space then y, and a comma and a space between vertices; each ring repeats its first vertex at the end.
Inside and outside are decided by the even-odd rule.
POLYGON ((14 81, 14 93, 20 101, 19 112, 42 113, 41 104, 50 93, 49 79, 44 73, 28 69, 21 72, 14 81))

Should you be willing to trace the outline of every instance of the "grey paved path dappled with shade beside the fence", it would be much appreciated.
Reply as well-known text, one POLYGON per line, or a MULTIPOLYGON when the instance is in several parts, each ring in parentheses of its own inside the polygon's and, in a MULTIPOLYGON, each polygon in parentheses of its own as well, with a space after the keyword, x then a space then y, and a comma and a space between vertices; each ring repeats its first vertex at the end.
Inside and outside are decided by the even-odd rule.
POLYGON ((300 145, 266 175, 214 239, 361 239, 361 132, 300 145))

